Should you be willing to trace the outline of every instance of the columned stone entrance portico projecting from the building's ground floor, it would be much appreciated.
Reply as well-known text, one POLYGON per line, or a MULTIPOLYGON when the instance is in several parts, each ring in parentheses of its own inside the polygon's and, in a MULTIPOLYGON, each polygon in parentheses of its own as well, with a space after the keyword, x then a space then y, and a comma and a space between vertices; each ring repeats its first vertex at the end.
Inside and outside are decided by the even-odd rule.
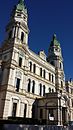
POLYGON ((45 119, 46 124, 64 125, 68 122, 67 99, 59 93, 48 93, 45 97, 37 99, 36 110, 38 119, 45 119), (39 116, 40 109, 42 109, 42 119, 39 116))

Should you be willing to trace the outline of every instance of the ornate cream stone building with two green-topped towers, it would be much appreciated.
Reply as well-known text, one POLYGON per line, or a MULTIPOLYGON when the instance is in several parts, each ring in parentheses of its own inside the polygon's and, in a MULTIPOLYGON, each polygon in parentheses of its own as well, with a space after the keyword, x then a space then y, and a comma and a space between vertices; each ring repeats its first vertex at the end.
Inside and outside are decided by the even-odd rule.
POLYGON ((12 10, 0 48, 0 118, 24 117, 63 125, 73 120, 73 82, 65 81, 56 35, 48 56, 28 46, 28 14, 23 0, 12 10))

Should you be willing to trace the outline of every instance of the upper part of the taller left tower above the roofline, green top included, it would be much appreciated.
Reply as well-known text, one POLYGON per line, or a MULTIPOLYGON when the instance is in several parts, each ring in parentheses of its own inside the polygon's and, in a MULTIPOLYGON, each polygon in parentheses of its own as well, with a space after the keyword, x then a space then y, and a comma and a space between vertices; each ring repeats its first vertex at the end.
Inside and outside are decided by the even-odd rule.
MULTIPOLYGON (((10 22, 6 27, 8 33, 8 41, 14 39, 17 41, 20 39, 21 43, 27 44, 28 42, 28 17, 27 8, 24 0, 18 0, 17 5, 14 6, 10 22), (20 34, 20 35, 19 35, 20 34), (25 35, 25 36, 24 36, 25 35)), ((18 42, 18 44, 21 44, 18 42)))

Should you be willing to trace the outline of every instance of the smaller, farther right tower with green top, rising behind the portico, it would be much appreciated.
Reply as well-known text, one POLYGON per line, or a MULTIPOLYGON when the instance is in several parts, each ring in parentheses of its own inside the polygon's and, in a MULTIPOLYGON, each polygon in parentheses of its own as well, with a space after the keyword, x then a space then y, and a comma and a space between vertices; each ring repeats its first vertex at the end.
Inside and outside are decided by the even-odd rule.
POLYGON ((55 67, 55 86, 56 90, 61 92, 65 89, 65 75, 63 70, 63 57, 60 47, 60 43, 57 40, 56 34, 53 38, 49 47, 48 62, 55 67))

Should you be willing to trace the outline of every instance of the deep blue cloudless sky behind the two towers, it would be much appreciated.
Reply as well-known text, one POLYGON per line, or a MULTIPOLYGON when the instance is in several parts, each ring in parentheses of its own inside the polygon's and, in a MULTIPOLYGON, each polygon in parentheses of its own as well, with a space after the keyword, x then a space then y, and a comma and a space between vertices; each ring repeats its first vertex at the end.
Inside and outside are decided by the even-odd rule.
MULTIPOLYGON (((0 3, 0 44, 5 37, 5 26, 18 0, 0 3)), ((73 78, 73 0, 25 0, 28 9, 29 47, 36 53, 48 48, 52 35, 60 41, 66 78, 73 78)))

